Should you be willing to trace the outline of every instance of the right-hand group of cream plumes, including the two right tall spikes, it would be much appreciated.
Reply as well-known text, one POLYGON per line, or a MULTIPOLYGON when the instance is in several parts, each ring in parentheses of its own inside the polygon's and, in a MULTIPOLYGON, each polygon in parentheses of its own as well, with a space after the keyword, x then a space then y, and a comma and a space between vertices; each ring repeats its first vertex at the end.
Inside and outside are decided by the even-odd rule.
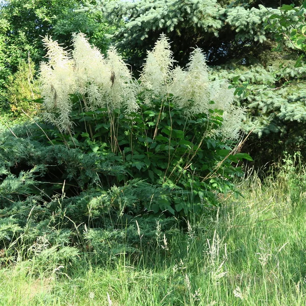
POLYGON ((203 51, 193 50, 186 69, 173 67, 173 63, 170 43, 162 35, 148 52, 140 77, 142 89, 147 90, 145 100, 150 101, 155 95, 172 95, 174 104, 184 109, 188 117, 208 113, 209 109, 223 110, 223 124, 217 133, 224 139, 237 139, 245 110, 234 104, 234 90, 228 89, 226 81, 209 80, 203 51))

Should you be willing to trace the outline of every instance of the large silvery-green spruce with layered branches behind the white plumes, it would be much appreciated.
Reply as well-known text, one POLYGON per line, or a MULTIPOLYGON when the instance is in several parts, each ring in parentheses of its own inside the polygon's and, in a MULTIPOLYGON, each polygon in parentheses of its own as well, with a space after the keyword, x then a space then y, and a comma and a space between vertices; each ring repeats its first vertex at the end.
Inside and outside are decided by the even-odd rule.
MULTIPOLYGON (((291 3, 282 2, 292 8, 291 3)), ((134 70, 142 65, 147 46, 153 46, 161 33, 173 42, 174 59, 179 62, 188 61, 190 46, 201 47, 212 78, 233 81, 240 88, 236 93, 248 110, 243 129, 252 132, 245 149, 260 165, 282 155, 284 147, 294 151, 304 146, 305 67, 295 66, 299 51, 292 44, 285 44, 282 53, 275 48, 277 28, 284 30, 286 24, 294 24, 298 29, 302 23, 294 10, 287 10, 286 24, 279 23, 279 18, 269 19, 284 15, 278 6, 279 2, 247 0, 119 0, 88 5, 87 9, 101 10, 109 20, 121 22, 112 39, 134 70)), ((290 31, 286 33, 290 36, 290 31)))

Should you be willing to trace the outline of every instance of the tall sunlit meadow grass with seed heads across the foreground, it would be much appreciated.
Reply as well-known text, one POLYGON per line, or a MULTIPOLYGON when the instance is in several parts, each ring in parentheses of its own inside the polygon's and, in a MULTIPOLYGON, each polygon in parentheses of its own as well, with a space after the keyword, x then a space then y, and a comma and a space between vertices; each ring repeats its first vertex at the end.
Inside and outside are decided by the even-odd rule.
POLYGON ((240 183, 244 198, 159 243, 93 264, 90 253, 47 269, 20 261, 0 270, 1 305, 305 305, 305 175, 287 163, 276 179, 240 183))

